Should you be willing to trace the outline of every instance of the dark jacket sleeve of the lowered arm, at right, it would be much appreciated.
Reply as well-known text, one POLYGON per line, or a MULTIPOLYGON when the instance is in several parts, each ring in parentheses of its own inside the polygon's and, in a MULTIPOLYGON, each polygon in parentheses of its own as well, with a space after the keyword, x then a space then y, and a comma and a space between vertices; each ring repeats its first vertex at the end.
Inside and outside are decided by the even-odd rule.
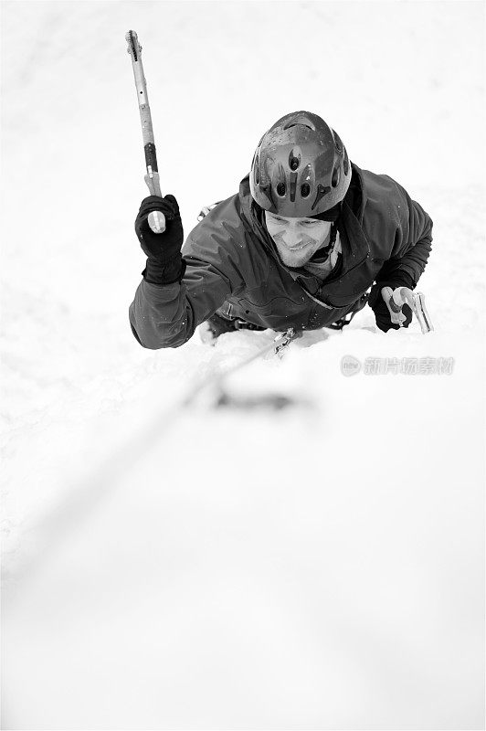
MULTIPOLYGON (((391 180, 391 178, 390 178, 391 180)), ((415 287, 426 268, 428 255, 432 249, 432 220, 428 213, 408 196, 407 191, 395 181, 396 216, 393 217, 395 230, 391 257, 385 262, 376 276, 376 281, 403 281, 405 272, 415 287)))

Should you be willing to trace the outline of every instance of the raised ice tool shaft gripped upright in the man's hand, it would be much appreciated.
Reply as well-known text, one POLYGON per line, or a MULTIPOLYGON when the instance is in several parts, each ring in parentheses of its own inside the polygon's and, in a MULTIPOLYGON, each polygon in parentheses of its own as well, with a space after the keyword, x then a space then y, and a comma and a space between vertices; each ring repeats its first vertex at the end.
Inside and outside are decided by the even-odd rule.
MULTIPOLYGON (((153 138, 152 115, 150 113, 149 99, 147 95, 147 83, 143 75, 142 46, 138 42, 138 37, 134 30, 129 30, 125 34, 125 40, 128 43, 127 52, 132 58, 132 69, 133 76, 135 77, 140 121, 142 122, 143 150, 145 153, 145 164, 147 166, 145 183, 147 184, 152 196, 162 197, 159 168, 157 166, 157 154, 155 151, 155 140, 153 138)), ((153 211, 153 213, 149 214, 148 223, 150 228, 152 228, 153 233, 162 233, 165 230, 165 217, 162 211, 153 211)))

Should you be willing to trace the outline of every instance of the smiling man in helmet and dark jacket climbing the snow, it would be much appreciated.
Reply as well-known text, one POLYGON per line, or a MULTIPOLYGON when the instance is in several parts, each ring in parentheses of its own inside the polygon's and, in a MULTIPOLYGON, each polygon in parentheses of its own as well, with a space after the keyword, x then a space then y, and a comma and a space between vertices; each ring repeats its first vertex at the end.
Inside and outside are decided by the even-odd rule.
MULTIPOLYGON (((143 200, 135 231, 147 263, 132 332, 144 347, 162 348, 184 344, 205 322, 215 337, 242 327, 340 328, 366 301, 380 330, 397 329, 381 291, 415 288, 431 230, 401 185, 350 162, 321 117, 292 112, 263 135, 238 195, 189 234, 184 258, 174 196, 143 200), (155 210, 164 213, 163 233, 149 226, 155 210)), ((406 304, 401 325, 411 317, 406 304)))

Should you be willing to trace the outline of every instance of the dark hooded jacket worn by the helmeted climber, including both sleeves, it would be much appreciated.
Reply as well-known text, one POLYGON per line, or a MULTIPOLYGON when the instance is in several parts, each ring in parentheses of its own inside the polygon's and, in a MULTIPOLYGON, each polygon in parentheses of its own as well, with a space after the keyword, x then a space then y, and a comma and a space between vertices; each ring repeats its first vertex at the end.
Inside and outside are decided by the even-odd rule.
POLYGON ((130 322, 144 347, 184 344, 217 310, 277 331, 320 328, 398 270, 415 286, 431 249, 432 221, 424 209, 388 175, 355 164, 339 222, 341 266, 325 281, 281 263, 261 214, 247 176, 239 194, 219 203, 187 237, 184 279, 141 282, 130 322))

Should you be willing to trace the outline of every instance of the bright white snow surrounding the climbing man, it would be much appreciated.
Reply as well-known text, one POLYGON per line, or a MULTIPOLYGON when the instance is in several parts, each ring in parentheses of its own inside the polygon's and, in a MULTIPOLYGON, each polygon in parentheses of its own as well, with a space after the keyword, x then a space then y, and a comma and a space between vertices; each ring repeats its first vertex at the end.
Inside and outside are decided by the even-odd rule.
POLYGON ((483 727, 484 4, 1 10, 3 727, 483 727), (187 231, 272 122, 320 113, 433 217, 435 332, 366 308, 227 384, 289 408, 181 408, 271 334, 132 337, 129 28, 187 231))

